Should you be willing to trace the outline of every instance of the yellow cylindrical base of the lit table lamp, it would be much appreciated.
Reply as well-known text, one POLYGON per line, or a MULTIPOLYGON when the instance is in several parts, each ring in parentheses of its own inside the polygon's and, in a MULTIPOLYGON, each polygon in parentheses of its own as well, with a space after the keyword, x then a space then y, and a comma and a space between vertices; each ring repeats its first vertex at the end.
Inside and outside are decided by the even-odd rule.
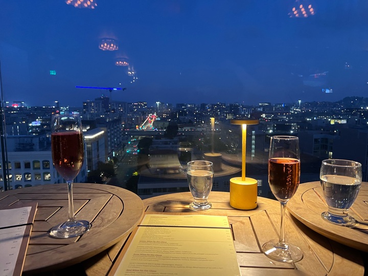
POLYGON ((240 210, 252 210, 257 207, 258 181, 253 178, 233 177, 230 179, 230 205, 240 210))

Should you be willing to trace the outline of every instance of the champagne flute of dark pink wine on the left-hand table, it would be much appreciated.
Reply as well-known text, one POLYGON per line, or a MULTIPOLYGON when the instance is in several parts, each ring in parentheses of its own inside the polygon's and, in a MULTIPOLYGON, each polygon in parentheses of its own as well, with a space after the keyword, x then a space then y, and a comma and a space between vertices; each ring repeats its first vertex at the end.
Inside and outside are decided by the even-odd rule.
POLYGON ((86 220, 76 220, 73 208, 73 180, 84 160, 82 123, 78 114, 53 114, 51 122, 52 159, 56 171, 67 183, 69 218, 51 228, 50 235, 55 238, 77 237, 92 226, 86 220))

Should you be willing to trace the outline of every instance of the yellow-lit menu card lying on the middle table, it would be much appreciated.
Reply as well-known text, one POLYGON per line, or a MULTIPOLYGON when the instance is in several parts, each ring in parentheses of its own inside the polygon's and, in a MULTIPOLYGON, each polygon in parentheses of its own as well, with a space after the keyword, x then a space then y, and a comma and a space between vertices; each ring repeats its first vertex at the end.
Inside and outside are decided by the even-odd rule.
POLYGON ((241 275, 226 216, 146 214, 109 275, 241 275))

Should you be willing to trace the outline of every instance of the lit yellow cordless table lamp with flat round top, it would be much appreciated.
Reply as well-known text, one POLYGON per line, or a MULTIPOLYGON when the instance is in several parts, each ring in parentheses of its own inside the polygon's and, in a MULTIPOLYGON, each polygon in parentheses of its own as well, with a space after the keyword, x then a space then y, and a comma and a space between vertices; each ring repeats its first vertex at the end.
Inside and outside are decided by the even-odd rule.
POLYGON ((230 205, 236 209, 251 210, 257 207, 257 184, 254 178, 245 177, 246 126, 258 125, 259 120, 231 120, 242 126, 242 177, 230 179, 230 205))

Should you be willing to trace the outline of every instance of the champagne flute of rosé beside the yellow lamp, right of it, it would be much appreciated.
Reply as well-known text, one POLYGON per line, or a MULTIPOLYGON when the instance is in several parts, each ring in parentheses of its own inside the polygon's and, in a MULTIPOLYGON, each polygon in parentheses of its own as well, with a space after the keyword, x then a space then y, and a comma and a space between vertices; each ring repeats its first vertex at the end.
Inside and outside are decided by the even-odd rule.
POLYGON ((268 182, 273 195, 281 203, 280 239, 269 241, 262 251, 269 258, 281 262, 297 262, 302 250, 285 242, 286 203, 295 194, 300 183, 299 140, 295 136, 271 137, 268 158, 268 182))

